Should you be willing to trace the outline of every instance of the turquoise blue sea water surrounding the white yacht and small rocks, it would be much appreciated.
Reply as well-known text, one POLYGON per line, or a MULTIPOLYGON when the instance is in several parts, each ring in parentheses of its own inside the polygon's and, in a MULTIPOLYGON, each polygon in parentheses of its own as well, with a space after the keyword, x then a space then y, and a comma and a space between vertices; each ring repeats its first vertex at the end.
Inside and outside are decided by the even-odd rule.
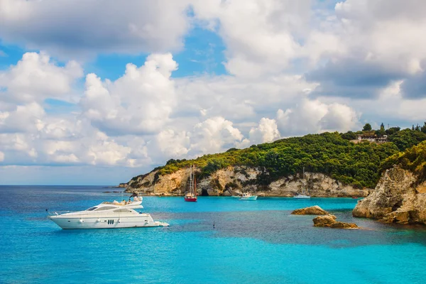
POLYGON ((0 283, 426 282, 426 229, 354 219, 347 198, 143 197, 170 224, 158 228, 62 230, 46 218, 120 200, 105 190, 0 186, 0 283), (365 229, 290 215, 315 204, 365 229))

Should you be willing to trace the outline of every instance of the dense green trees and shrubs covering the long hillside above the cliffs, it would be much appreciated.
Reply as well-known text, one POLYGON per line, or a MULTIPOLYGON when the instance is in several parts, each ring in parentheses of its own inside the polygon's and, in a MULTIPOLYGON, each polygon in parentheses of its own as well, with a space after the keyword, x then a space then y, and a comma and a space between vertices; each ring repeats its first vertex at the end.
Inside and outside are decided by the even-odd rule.
MULTIPOLYGON (((203 155, 195 160, 168 160, 163 167, 156 168, 159 175, 174 173, 180 168, 196 165, 207 176, 229 165, 255 166, 262 170, 256 182, 268 185, 285 175, 301 173, 302 168, 315 173, 324 173, 346 184, 356 187, 375 187, 381 164, 386 158, 396 157, 399 151, 426 140, 425 127, 404 129, 398 127, 374 131, 366 124, 364 131, 347 133, 309 134, 303 137, 285 138, 273 143, 252 145, 246 149, 231 148, 224 153, 203 155), (356 134, 388 134, 388 143, 353 143, 356 134)), ((391 163, 391 162, 390 162, 391 163)))

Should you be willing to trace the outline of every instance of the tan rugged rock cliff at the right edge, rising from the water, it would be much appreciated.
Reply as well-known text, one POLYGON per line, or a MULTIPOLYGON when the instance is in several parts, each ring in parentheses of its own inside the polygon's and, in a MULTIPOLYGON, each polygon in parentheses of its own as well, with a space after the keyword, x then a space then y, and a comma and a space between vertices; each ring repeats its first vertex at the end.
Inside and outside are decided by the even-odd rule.
POLYGON ((426 224, 426 182, 418 182, 412 172, 394 166, 383 173, 376 190, 360 200, 352 214, 388 223, 426 224))

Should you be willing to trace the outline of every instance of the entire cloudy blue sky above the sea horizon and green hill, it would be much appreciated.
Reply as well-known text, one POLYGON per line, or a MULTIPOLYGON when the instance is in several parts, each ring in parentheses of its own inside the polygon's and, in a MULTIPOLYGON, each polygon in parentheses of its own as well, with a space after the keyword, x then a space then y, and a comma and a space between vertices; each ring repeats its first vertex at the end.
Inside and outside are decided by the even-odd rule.
POLYGON ((0 0, 0 185, 426 119, 423 0, 0 0))

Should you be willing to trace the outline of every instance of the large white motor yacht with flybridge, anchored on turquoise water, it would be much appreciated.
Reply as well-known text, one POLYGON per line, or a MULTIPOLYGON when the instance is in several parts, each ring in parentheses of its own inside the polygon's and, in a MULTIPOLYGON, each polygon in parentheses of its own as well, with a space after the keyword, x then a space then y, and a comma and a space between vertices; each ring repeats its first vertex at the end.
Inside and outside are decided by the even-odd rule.
POLYGON ((78 212, 52 212, 48 216, 62 229, 114 229, 140 226, 168 226, 167 223, 154 222, 150 214, 137 212, 143 208, 142 197, 133 201, 102 202, 78 212), (62 214, 60 214, 62 213, 62 214))

